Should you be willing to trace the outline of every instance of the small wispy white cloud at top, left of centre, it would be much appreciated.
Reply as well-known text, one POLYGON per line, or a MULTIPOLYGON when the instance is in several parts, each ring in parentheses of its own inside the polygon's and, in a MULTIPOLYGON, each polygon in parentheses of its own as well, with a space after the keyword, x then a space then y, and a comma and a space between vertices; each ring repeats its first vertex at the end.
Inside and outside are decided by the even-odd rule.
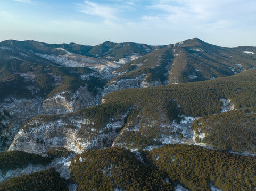
POLYGON ((103 19, 116 19, 117 10, 108 5, 84 1, 85 4, 79 4, 79 11, 85 14, 100 16, 103 19))

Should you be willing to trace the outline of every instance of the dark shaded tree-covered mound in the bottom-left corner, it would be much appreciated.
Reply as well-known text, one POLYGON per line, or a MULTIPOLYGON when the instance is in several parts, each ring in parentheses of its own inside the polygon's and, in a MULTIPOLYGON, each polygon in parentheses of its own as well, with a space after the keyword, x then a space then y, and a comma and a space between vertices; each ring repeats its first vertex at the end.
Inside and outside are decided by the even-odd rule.
POLYGON ((69 190, 67 181, 60 177, 60 174, 53 168, 40 172, 31 173, 30 175, 21 175, 6 182, 0 183, 0 190, 22 190, 22 191, 55 191, 69 190))

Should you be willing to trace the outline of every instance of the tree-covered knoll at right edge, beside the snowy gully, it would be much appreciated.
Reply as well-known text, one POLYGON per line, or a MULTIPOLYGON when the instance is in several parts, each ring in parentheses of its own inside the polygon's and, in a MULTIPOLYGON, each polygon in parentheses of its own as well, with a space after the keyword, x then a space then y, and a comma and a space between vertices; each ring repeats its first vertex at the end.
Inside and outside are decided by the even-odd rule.
POLYGON ((195 120, 192 129, 205 133, 203 143, 221 150, 256 153, 256 114, 229 111, 195 120))

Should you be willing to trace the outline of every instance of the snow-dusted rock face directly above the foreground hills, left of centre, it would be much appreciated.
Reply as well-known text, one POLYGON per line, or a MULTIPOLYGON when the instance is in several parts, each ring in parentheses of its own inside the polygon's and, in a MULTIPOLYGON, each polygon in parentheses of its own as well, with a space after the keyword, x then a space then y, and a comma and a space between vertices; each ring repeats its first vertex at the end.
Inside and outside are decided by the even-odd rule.
POLYGON ((88 119, 77 120, 65 117, 65 122, 61 118, 51 122, 32 120, 16 134, 9 151, 44 154, 52 147, 65 147, 70 151, 81 153, 111 146, 118 134, 116 130, 122 127, 126 115, 121 116, 117 121, 110 121, 101 130, 90 128, 90 134, 86 125, 93 121, 88 119))

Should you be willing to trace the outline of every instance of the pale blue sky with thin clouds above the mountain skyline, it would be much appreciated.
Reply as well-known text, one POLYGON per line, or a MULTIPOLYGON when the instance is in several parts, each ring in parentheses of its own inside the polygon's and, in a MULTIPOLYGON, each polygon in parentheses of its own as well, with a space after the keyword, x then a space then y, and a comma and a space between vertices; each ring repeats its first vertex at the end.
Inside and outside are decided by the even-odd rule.
POLYGON ((0 0, 0 41, 256 46, 255 0, 0 0))

